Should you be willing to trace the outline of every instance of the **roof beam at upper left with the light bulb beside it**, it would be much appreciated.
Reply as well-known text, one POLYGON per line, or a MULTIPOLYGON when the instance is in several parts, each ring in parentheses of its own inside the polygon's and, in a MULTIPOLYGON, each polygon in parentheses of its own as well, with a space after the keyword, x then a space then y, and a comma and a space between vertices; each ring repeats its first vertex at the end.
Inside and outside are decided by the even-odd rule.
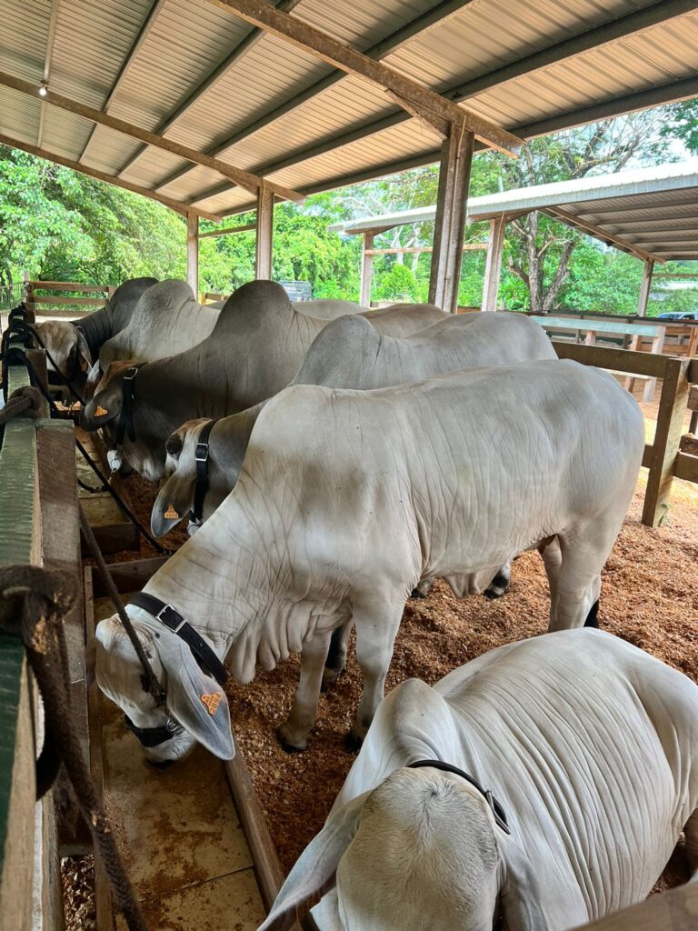
MULTIPOLYGON (((32 97, 38 94, 39 89, 39 85, 33 84, 30 81, 24 81, 20 77, 7 74, 7 72, 0 72, 0 85, 19 90, 21 93, 28 94, 32 97)), ((272 182, 266 182, 259 175, 251 174, 249 171, 243 169, 237 169, 232 165, 228 165, 226 162, 221 162, 218 158, 212 158, 210 155, 203 155, 200 152, 196 152, 195 149, 190 148, 188 145, 181 145, 179 142, 166 139, 164 136, 158 136, 156 133, 149 132, 147 129, 134 126, 132 123, 127 123, 126 120, 102 113, 101 110, 95 110, 94 107, 87 106, 85 103, 63 97, 62 94, 57 94, 49 90, 44 100, 46 100, 47 103, 60 107, 62 110, 67 110, 69 113, 84 116, 93 123, 100 123, 102 126, 115 129, 117 132, 124 133, 124 135, 130 136, 133 139, 140 139, 141 142, 148 142, 149 145, 154 145, 158 149, 164 149, 165 152, 179 155, 181 158, 186 158, 188 161, 195 162, 197 165, 204 165, 206 168, 214 169, 230 182, 239 184, 251 193, 256 194, 259 188, 264 184, 268 188, 271 188, 276 196, 282 197, 284 200, 302 201, 303 199, 302 195, 297 194, 295 191, 291 191, 287 187, 272 182)))

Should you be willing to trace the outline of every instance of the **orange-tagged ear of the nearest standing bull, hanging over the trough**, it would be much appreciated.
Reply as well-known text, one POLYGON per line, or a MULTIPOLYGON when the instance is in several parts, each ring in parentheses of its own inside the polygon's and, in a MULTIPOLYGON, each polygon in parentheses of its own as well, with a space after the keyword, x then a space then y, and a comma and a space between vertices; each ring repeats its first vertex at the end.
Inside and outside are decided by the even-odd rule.
POLYGON ((178 637, 168 637, 166 643, 161 638, 157 652, 168 673, 168 710, 172 716, 214 756, 232 760, 235 744, 228 699, 221 685, 201 671, 189 647, 178 637))

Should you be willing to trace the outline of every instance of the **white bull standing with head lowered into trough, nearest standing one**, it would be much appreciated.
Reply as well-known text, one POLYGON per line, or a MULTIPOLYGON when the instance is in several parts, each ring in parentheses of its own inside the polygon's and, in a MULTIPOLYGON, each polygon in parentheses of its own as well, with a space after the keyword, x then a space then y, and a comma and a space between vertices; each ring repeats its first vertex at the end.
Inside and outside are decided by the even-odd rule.
MULTIPOLYGON (((234 491, 144 592, 186 618, 237 681, 302 652, 280 729, 294 749, 315 723, 332 631, 353 621, 364 677, 353 727, 360 741, 420 579, 444 577, 457 596, 480 593, 503 563, 538 547, 550 629, 581 627, 595 614, 643 448, 635 398, 611 375, 571 361, 378 391, 293 385, 264 408, 234 491)), ((97 629, 102 691, 138 727, 163 726, 168 713, 180 723, 154 759, 176 759, 196 740, 231 756, 215 683, 154 616, 135 606, 129 614, 175 704, 168 697, 168 708, 155 708, 141 692, 116 618, 97 629), (210 685, 216 713, 202 715, 210 685)))

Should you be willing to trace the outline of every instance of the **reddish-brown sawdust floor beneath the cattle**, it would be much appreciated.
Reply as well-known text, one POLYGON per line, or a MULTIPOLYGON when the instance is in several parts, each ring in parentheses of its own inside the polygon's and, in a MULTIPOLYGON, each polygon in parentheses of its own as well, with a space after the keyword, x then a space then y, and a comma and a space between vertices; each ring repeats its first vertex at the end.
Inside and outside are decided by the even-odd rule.
MULTIPOLYGON (((648 441, 656 409, 656 402, 643 405, 648 441)), ((675 481, 664 525, 652 530, 639 522, 646 479, 643 470, 603 573, 599 622, 698 681, 698 486, 675 481)), ((133 478, 128 488, 139 516, 147 519, 154 487, 133 478)), ((177 530, 163 542, 175 548, 185 538, 177 530)), ((141 545, 141 557, 153 554, 150 546, 141 545)), ((133 553, 115 554, 111 560, 134 558, 138 556, 133 553)), ((543 633, 547 612, 548 588, 537 553, 516 560, 511 589, 497 601, 458 600, 444 583, 436 582, 427 599, 411 600, 406 606, 387 688, 411 676, 433 683, 494 647, 543 633)), ((361 689, 352 652, 341 681, 320 698, 309 749, 289 755, 277 743, 275 728, 289 712, 298 673, 298 658, 292 657, 274 672, 258 674, 249 685, 233 683, 228 690, 235 735, 285 870, 322 826, 355 759, 344 749, 344 738, 361 689)), ((658 888, 684 879, 679 856, 658 888)))

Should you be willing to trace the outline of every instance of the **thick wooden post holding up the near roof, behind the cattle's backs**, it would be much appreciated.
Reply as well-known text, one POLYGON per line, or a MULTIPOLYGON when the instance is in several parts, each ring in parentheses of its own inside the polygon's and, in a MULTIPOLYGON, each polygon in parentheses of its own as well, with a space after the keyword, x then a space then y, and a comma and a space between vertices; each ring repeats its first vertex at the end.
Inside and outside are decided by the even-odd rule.
POLYGON ((458 304, 473 141, 472 132, 451 123, 441 150, 429 301, 451 314, 458 304))

